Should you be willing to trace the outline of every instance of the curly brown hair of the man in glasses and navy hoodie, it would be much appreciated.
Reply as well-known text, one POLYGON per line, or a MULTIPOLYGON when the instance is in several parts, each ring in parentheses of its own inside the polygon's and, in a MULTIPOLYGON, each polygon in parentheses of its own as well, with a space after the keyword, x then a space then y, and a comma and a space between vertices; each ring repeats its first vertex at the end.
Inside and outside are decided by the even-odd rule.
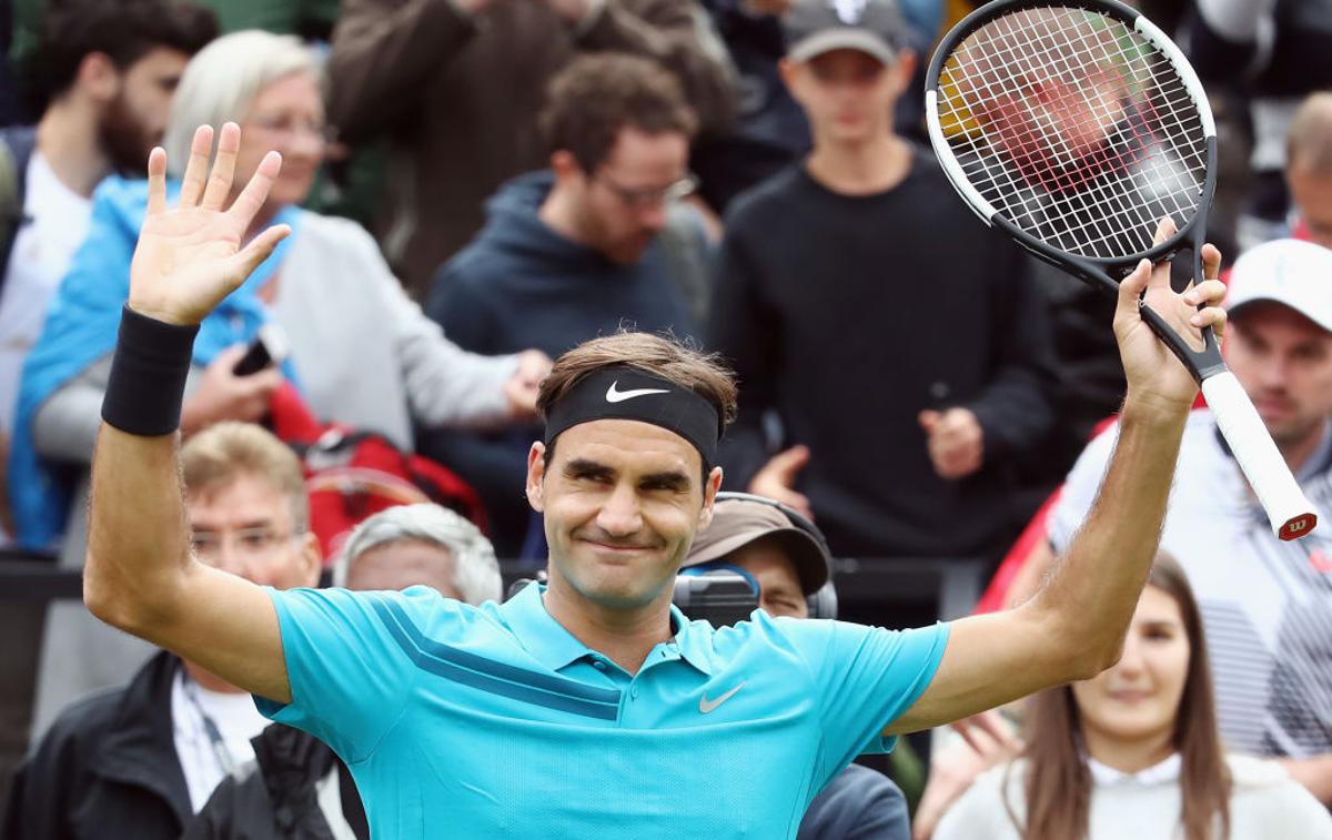
POLYGON ((649 59, 607 52, 574 59, 550 81, 539 125, 553 152, 569 152, 590 173, 626 125, 691 138, 698 117, 670 71, 649 59))

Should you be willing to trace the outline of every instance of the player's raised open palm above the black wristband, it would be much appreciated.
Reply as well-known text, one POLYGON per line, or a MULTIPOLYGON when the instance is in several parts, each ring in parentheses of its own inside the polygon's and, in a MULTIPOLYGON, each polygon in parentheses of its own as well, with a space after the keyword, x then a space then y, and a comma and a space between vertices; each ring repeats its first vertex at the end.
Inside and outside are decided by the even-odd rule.
POLYGON ((240 136, 234 122, 222 126, 209 173, 213 129, 202 125, 194 132, 174 208, 166 206, 166 153, 153 149, 148 157, 148 213, 129 269, 129 306, 136 312, 168 323, 198 323, 290 233, 286 225, 274 225, 241 246, 282 158, 269 152, 224 209, 240 136))

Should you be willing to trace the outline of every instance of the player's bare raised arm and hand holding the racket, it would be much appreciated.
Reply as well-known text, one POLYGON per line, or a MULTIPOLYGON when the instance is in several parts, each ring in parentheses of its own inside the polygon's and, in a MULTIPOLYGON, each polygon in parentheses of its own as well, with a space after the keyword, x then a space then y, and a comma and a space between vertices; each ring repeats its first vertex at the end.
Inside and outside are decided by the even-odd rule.
POLYGON ((1138 596, 1156 556, 1175 459, 1196 383, 1139 314, 1152 308, 1184 335, 1220 333, 1225 315, 1199 302, 1225 294, 1216 281, 1220 253, 1203 252, 1208 278, 1196 289, 1169 289, 1169 264, 1140 265, 1120 285, 1115 337, 1128 377, 1119 443, 1100 495, 1054 567, 1044 588, 1023 606, 954 622, 930 687, 887 730, 912 732, 994 708, 1035 691, 1088 679, 1114 664, 1138 596))

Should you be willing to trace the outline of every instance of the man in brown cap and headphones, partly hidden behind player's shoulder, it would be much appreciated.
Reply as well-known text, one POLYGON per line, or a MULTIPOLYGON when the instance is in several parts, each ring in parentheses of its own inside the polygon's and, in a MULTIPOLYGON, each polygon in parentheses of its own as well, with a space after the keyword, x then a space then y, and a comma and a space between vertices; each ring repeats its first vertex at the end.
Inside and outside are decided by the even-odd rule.
MULTIPOLYGON (((713 523, 694 538, 685 566, 742 570, 758 586, 759 607, 774 618, 836 618, 825 614, 836 602, 829 596, 832 558, 818 527, 762 497, 718 497, 713 523), (821 608, 817 615, 810 600, 821 608)), ((810 803, 795 837, 910 840, 906 797, 883 773, 851 764, 810 803)))

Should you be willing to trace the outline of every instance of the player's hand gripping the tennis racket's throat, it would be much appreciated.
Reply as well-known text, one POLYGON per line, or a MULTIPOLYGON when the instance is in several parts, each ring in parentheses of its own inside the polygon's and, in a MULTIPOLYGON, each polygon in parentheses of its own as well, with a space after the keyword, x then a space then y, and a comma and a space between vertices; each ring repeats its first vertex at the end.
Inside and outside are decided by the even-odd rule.
MULTIPOLYGON (((1156 226, 1155 241, 1164 242, 1173 233, 1175 222, 1168 217, 1163 218, 1156 226)), ((1195 349, 1203 346, 1199 330, 1204 326, 1216 330, 1216 339, 1220 342, 1225 331, 1225 312, 1217 306, 1225 297, 1224 284, 1216 280, 1221 268, 1221 252, 1213 245, 1204 245, 1201 257, 1205 280, 1181 294, 1176 294, 1169 286, 1168 260, 1155 268, 1143 260, 1134 273, 1119 284, 1115 339, 1119 342, 1119 357, 1124 362, 1130 399, 1172 410, 1187 410, 1197 397, 1197 382, 1193 375, 1143 321, 1138 301, 1146 292, 1147 304, 1195 349), (1197 310, 1199 304, 1207 304, 1207 309, 1197 310)))

